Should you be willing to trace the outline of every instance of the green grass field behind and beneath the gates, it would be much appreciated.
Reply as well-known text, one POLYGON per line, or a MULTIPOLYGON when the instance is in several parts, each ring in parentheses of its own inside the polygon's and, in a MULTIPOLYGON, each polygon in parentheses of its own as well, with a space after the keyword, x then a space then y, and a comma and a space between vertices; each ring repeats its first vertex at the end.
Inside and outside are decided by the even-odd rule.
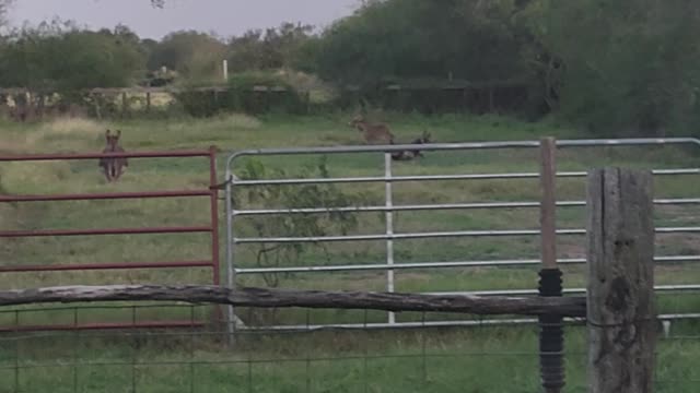
MULTIPOLYGON (((357 131, 348 128, 350 115, 314 117, 225 116, 210 120, 131 120, 96 123, 90 120, 61 120, 20 127, 2 123, 0 151, 3 153, 92 152, 103 147, 106 128, 121 129, 128 151, 206 148, 217 145, 223 152, 252 147, 318 146, 359 144, 357 131)), ((553 121, 523 123, 503 117, 399 116, 388 114, 399 141, 410 141, 430 130, 436 142, 535 140, 540 135, 579 138, 575 130, 553 121)), ((646 168, 698 167, 700 154, 685 147, 606 147, 560 152, 562 170, 587 170, 605 165, 646 168)), ((421 160, 397 163, 396 175, 477 174, 537 171, 536 151, 485 151, 468 153, 425 153, 421 160)), ((223 174, 226 154, 219 159, 223 174)), ((259 162, 266 170, 284 169, 299 176, 313 166, 318 156, 267 157, 259 162)), ((330 176, 382 176, 378 155, 328 156, 330 176)), ((236 162, 236 174, 249 164, 236 162)), ((192 159, 133 159, 116 184, 107 184, 96 162, 11 163, 0 165, 0 192, 12 194, 147 191, 202 188, 208 186, 208 164, 192 159)), ((220 176, 222 178, 222 176, 220 176)), ((658 177, 656 198, 697 198, 700 186, 693 176, 658 177)), ((384 184, 338 187, 345 195, 359 194, 369 204, 384 204, 384 184)), ((291 191, 290 191, 291 192, 291 191)), ((395 204, 464 203, 493 201, 536 201, 536 180, 476 180, 406 182, 394 187, 395 204)), ((581 200, 582 179, 558 182, 561 200, 581 200)), ((284 207, 270 201, 238 201, 246 207, 284 207), (266 203, 267 202, 267 203, 266 203)), ((61 202, 0 204, 0 229, 98 228, 174 226, 207 224, 207 199, 132 200, 102 202, 61 202)), ((660 206, 655 216, 660 226, 697 226, 696 206, 660 206)), ((223 217, 223 214, 221 215, 223 217)), ((561 228, 584 226, 584 211, 559 211, 561 228)), ((383 233, 382 215, 360 214, 352 234, 383 233)), ((235 223, 237 236, 256 236, 255 218, 235 223)), ((268 227, 273 223, 267 222, 268 227)), ((537 210, 451 211, 399 213, 395 230, 445 231, 469 229, 533 229, 538 226, 537 210)), ((223 229, 223 227, 222 227, 223 229)), ((275 234, 271 234, 275 235, 275 234)), ((329 234, 339 235, 339 234, 329 234)), ((222 242, 223 243, 223 242, 222 242)), ((700 245, 690 234, 660 236, 660 255, 698 255, 700 245)), ((3 240, 3 264, 68 264, 106 262, 153 262, 207 259, 210 241, 205 235, 109 236, 100 238, 35 238, 3 240)), ((222 246, 223 247, 223 246, 222 246)), ((258 266, 255 247, 236 250, 238 266, 258 266)), ((293 262, 303 264, 383 263, 385 245, 332 243, 325 249, 308 247, 293 262)), ((581 258, 583 238, 561 237, 562 258, 581 258)), ((221 250, 223 255, 223 248, 221 250)), ((436 262, 538 257, 538 239, 526 237, 450 240, 406 240, 395 243, 396 262, 436 262)), ((267 263, 290 265, 282 259, 267 263)), ((583 266, 564 267, 565 287, 585 285, 583 266)), ((698 284, 700 270, 693 264, 660 265, 656 282, 698 284)), ((121 283, 210 283, 209 270, 103 271, 33 274, 2 274, 3 288, 24 288, 69 284, 121 283)), ((315 273, 277 277, 280 287, 315 289, 383 290, 384 273, 315 273)), ((259 276, 241 276, 243 285, 267 285, 259 276)), ((398 291, 455 291, 490 289, 532 289, 537 286, 536 266, 532 269, 448 269, 400 271, 396 273, 398 291)), ((38 323, 130 321, 199 317, 206 307, 176 306, 124 310, 100 308, 80 311, 32 312, 2 310, 0 325, 38 323)), ((696 294, 660 296, 660 311, 693 312, 700 307, 696 294)), ((318 310, 260 311, 242 309, 246 324, 383 322, 386 313, 318 310)), ((433 314, 400 314, 405 321, 444 318, 433 314)), ((465 319, 465 315, 450 318, 465 319)), ((700 372, 700 342, 692 337, 698 324, 674 324, 675 338, 660 343, 658 390, 695 391, 700 372)), ((581 327, 568 332, 569 392, 585 391, 585 336, 581 327)), ((68 333, 5 335, 0 340, 0 379, 10 381, 0 392, 532 392, 537 390, 536 331, 532 327, 478 327, 418 330, 412 332, 301 332, 294 334, 250 334, 242 336, 234 353, 222 349, 219 336, 201 333, 163 332, 129 335, 112 333, 68 333), (7 345, 5 345, 7 344, 7 345), (78 364, 89 364, 74 367, 78 364), (50 365, 51 367, 47 367, 50 365), (16 370, 20 370, 16 372, 16 370), (15 383, 16 382, 16 383, 15 383), (21 388, 16 389, 16 385, 21 388), (177 388, 177 389, 176 389, 177 388)))

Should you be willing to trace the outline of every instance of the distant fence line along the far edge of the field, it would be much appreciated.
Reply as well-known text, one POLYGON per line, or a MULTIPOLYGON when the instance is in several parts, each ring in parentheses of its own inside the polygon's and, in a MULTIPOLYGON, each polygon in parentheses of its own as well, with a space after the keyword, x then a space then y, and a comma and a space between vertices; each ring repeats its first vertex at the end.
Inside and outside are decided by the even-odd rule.
MULTIPOLYGON (((0 88, 0 97, 33 93, 27 88, 0 88)), ((35 92, 34 92, 35 93, 35 92)), ((279 85, 254 85, 247 88, 230 86, 203 87, 115 87, 92 88, 75 92, 89 97, 109 98, 117 116, 131 112, 150 112, 156 108, 159 95, 177 98, 190 115, 208 116, 218 110, 266 112, 285 110, 307 114, 315 108, 355 108, 369 103, 388 110, 421 112, 474 111, 493 112, 523 109, 532 100, 532 86, 521 81, 494 81, 480 83, 446 82, 442 84, 389 84, 376 87, 343 86, 337 95, 325 100, 313 98, 316 91, 290 90, 279 85), (138 105, 135 105, 138 103, 138 105), (203 106, 203 107, 202 107, 203 106)), ((44 92, 45 96, 54 93, 44 92)), ((162 104, 162 103, 161 103, 162 104)), ((93 105, 94 106, 94 105, 93 105)), ((96 116, 107 114, 106 108, 91 108, 96 116)))

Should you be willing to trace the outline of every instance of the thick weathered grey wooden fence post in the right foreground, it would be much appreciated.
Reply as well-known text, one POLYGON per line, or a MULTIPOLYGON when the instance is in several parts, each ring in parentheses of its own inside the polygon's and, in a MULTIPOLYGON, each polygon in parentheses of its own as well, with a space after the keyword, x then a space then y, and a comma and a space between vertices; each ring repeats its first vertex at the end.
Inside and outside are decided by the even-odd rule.
POLYGON ((653 391, 654 224, 652 175, 588 175, 588 392, 653 391))

